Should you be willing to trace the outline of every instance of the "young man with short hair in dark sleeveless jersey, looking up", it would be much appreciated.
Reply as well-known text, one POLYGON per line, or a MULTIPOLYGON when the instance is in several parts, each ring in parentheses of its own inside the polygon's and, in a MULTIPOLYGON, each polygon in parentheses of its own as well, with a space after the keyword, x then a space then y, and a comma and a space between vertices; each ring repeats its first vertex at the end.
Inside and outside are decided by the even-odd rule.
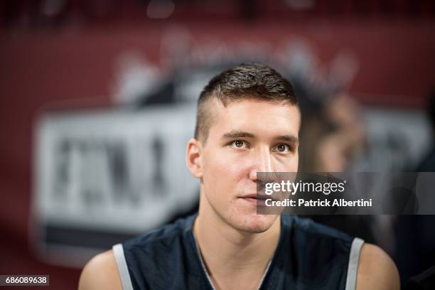
POLYGON ((198 100, 198 215, 94 257, 80 289, 399 289, 375 245, 291 215, 257 215, 257 172, 296 172, 300 112, 266 65, 217 75, 198 100))

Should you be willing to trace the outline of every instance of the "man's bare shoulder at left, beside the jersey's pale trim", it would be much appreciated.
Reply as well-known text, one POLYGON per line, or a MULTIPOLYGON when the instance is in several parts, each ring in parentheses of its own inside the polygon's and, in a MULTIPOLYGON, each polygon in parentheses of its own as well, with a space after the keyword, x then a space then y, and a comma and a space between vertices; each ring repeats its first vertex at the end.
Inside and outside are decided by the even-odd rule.
POLYGON ((87 289, 122 289, 117 262, 112 250, 97 254, 82 270, 80 290, 87 289))

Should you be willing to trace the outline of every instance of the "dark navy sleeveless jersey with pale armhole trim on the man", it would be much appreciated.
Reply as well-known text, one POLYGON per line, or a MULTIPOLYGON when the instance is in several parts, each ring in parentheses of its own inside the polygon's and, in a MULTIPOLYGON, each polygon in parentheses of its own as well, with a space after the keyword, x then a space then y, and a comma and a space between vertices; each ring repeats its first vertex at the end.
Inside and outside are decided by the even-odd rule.
MULTIPOLYGON (((207 289, 195 246, 196 215, 113 247, 124 289, 207 289)), ((259 289, 355 289, 363 240, 281 215, 274 257, 259 289)))

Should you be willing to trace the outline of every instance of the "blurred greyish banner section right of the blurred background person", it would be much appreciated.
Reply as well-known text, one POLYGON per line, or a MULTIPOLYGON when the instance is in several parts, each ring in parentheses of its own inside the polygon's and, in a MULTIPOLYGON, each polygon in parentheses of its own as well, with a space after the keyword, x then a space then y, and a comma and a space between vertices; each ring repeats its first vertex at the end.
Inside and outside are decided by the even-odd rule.
POLYGON ((367 148, 353 171, 414 171, 430 149, 431 124, 420 109, 363 107, 367 148))

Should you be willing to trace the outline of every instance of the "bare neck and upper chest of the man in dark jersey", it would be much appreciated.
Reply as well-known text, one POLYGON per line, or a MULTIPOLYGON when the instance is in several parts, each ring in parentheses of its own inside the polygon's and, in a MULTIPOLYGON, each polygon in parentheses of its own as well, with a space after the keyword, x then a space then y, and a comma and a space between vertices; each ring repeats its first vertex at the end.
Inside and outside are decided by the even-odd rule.
POLYGON ((228 225, 204 199, 193 231, 213 281, 244 275, 259 280, 278 245, 280 217, 265 232, 244 232, 228 225))

